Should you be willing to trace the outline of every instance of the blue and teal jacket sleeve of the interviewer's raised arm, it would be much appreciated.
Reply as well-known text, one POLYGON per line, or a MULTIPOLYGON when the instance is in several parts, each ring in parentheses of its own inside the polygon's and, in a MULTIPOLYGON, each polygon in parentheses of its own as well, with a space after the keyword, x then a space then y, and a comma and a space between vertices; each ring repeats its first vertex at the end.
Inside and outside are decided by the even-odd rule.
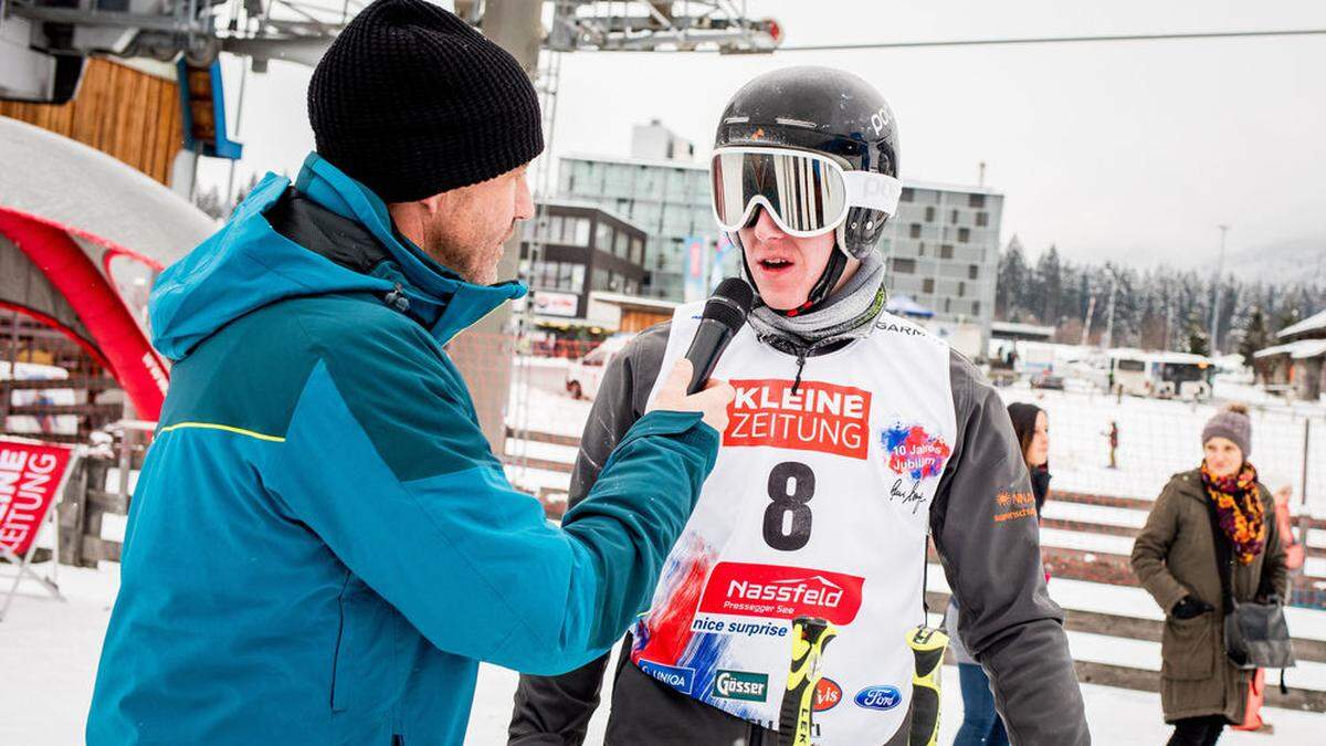
POLYGON ((442 650, 536 673, 602 654, 648 603, 717 433, 699 413, 640 418, 557 527, 507 482, 463 380, 416 331, 320 350, 269 490, 442 650))

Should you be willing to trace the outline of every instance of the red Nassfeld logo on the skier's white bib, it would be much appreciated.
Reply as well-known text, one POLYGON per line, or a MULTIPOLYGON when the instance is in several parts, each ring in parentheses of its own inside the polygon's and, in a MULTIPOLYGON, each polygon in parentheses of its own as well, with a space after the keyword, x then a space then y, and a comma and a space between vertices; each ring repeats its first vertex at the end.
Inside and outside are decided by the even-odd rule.
POLYGON ((865 577, 774 564, 720 561, 700 597, 700 612, 796 619, 818 616, 839 627, 861 611, 865 577))

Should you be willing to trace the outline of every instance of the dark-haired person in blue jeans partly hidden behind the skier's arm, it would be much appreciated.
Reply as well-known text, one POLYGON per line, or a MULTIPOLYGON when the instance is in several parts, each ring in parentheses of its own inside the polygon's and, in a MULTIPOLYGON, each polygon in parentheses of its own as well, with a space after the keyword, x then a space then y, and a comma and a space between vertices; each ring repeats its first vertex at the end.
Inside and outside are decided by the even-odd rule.
MULTIPOLYGON (((1045 410, 1034 404, 1014 402, 1008 405, 1008 417, 1013 422, 1013 433, 1017 435, 1018 447, 1022 451, 1022 462, 1026 463, 1028 475, 1032 479, 1032 492, 1036 495, 1036 514, 1040 519, 1045 498, 1050 492, 1050 422, 1045 410)), ((994 694, 991 692, 991 680, 985 676, 961 637, 957 634, 957 604, 953 599, 948 601, 945 613, 945 627, 951 632, 949 648, 957 661, 957 676, 963 688, 963 725, 953 739, 955 746, 1005 746, 1008 733, 1004 730, 1004 721, 994 708, 994 694)))

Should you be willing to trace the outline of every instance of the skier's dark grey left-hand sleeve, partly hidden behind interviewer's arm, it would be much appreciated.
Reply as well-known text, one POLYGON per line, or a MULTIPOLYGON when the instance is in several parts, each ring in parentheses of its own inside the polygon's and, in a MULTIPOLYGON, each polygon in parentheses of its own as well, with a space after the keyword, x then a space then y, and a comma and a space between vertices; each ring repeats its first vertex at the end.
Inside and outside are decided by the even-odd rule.
MULTIPOLYGON (((585 422, 568 502, 590 494, 613 447, 643 415, 663 365, 668 325, 646 331, 613 358, 585 422)), ((509 746, 578 746, 599 704, 609 653, 561 676, 521 674, 508 729, 509 746)))

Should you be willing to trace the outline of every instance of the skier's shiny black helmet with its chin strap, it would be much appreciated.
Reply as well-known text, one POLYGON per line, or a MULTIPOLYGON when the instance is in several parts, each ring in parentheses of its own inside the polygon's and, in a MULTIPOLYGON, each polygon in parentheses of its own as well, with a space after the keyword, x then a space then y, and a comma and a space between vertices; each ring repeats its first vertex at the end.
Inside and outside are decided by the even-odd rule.
MULTIPOLYGON (((849 171, 898 178, 898 123, 878 90, 846 70, 822 66, 782 68, 757 76, 728 101, 713 147, 764 146, 833 157, 849 171)), ((837 228, 835 251, 806 304, 813 311, 838 283, 849 256, 865 259, 883 235, 887 212, 853 207, 837 228)), ((728 240, 741 248, 736 232, 728 240)), ((743 254, 744 256, 744 254, 743 254)), ((743 268, 754 285, 751 268, 743 268)))

